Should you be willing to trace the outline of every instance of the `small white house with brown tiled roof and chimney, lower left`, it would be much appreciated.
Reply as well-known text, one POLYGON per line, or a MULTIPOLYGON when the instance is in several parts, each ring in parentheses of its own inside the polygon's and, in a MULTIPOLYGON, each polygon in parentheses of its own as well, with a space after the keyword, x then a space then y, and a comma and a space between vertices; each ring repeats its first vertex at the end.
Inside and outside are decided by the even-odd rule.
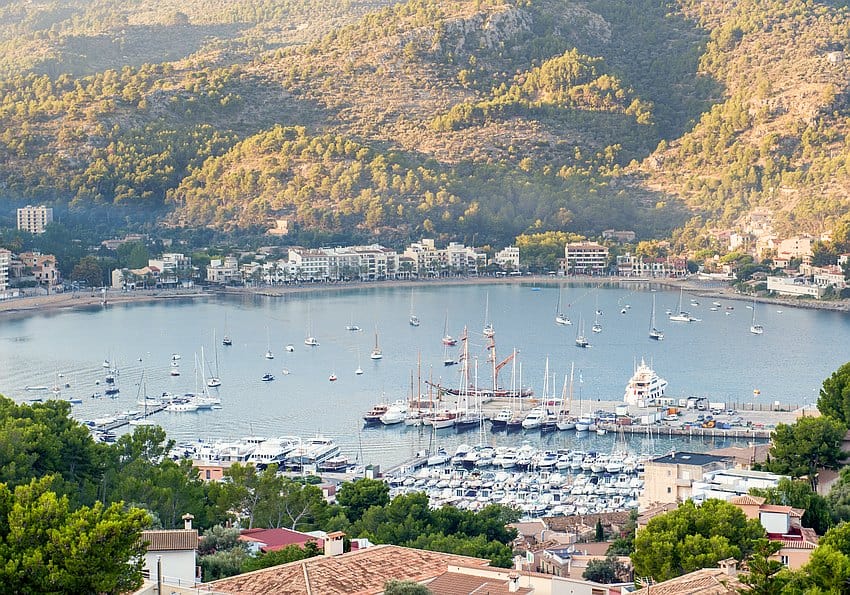
POLYGON ((196 553, 198 531, 192 529, 191 514, 183 515, 183 529, 142 531, 142 541, 148 543, 143 575, 156 582, 162 572, 162 582, 176 586, 193 586, 198 581, 196 553))

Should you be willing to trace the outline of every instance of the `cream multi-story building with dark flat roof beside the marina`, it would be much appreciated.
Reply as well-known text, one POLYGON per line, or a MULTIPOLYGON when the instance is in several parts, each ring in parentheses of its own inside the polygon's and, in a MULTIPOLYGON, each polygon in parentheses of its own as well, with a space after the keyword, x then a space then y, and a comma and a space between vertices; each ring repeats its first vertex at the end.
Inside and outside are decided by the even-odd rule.
POLYGON ((693 495, 695 482, 702 482, 712 471, 729 469, 732 460, 704 453, 673 452, 647 461, 642 509, 650 505, 684 502, 693 495))

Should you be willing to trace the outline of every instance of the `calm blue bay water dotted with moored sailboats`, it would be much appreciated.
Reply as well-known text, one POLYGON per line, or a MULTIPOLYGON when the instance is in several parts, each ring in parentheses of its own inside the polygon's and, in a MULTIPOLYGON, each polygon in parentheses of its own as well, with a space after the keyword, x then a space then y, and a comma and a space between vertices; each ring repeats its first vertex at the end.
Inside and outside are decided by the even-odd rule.
MULTIPOLYGON (((850 359, 850 315, 818 310, 756 305, 763 335, 749 332, 753 311, 744 301, 720 300, 712 311, 708 298, 685 294, 685 307, 701 318, 696 323, 666 320, 675 310, 679 293, 648 285, 600 287, 565 285, 562 310, 572 326, 554 323, 559 296, 556 284, 434 285, 409 288, 364 287, 339 292, 283 297, 215 298, 114 305, 105 309, 48 312, 37 316, 0 318, 0 393, 17 401, 41 396, 26 386, 71 385, 65 397, 83 399, 74 405, 79 419, 94 419, 138 409, 146 391, 199 391, 202 379, 195 362, 204 360, 207 373, 218 366, 222 386, 215 391, 223 408, 198 413, 160 413, 155 421, 178 440, 238 438, 248 435, 322 433, 333 437, 343 451, 364 463, 398 463, 432 445, 433 436, 415 428, 363 428, 361 416, 373 404, 406 398, 416 383, 417 361, 422 379, 457 385, 459 366, 443 366, 441 338, 448 318, 449 333, 469 329, 470 357, 478 362, 479 383, 489 385, 485 314, 496 329, 498 357, 517 349, 518 365, 506 366, 500 380, 510 386, 512 373, 524 385, 543 390, 549 360, 557 391, 576 369, 575 393, 590 409, 597 400, 621 400, 635 362, 644 358, 669 381, 671 396, 702 395, 716 401, 813 403, 823 380, 850 359), (647 336, 652 296, 657 299, 657 322, 664 341, 647 336), (489 304, 489 308, 487 307, 489 304), (734 309, 726 309, 732 306, 734 309), (411 309, 421 326, 408 324, 411 309), (590 332, 597 318, 601 333, 590 332), (621 313, 625 309, 625 313, 621 313), (575 347, 579 321, 591 341, 589 349, 575 347), (351 323, 362 332, 345 330, 351 323), (231 347, 221 346, 227 327, 231 347), (311 332, 319 347, 304 345, 311 332), (369 353, 376 333, 383 359, 369 353), (214 339, 215 338, 215 339, 214 339), (284 347, 292 344, 294 352, 284 347), (264 357, 267 349, 275 359, 264 357), (169 375, 172 354, 181 355, 179 377, 169 375), (117 362, 120 395, 93 399, 104 388, 102 362, 117 362), (216 364, 217 362, 217 364, 216 364), (363 368, 356 376, 354 370, 363 368), (283 375, 286 368, 290 374, 283 375), (270 372, 274 382, 261 382, 270 372), (329 382, 330 374, 338 380, 329 382), (59 375, 61 374, 61 377, 59 375), (581 379, 578 382, 578 378, 581 379), (760 395, 754 397, 758 388, 760 395)), ((197 364, 199 367, 200 364, 197 364)), ((471 372, 474 375, 474 372, 471 372)), ((416 390, 415 388, 413 390, 416 390)), ((423 385, 423 392, 425 388, 423 385)), ((43 396, 47 396, 44 394, 43 396)), ((475 433, 441 431, 440 445, 477 442, 475 433)), ((524 439, 547 447, 605 450, 613 437, 574 433, 490 435, 492 444, 518 444, 524 439)), ((669 440, 632 438, 635 450, 663 452, 669 440)), ((697 441, 686 447, 705 449, 725 443, 697 441)), ((682 448, 681 442, 676 445, 682 448)))

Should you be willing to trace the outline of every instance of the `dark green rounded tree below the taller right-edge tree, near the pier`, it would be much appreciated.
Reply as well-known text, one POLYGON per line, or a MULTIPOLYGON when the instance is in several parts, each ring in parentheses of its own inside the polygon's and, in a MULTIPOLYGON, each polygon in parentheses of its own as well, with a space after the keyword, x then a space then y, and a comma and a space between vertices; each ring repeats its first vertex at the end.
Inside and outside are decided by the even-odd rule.
POLYGON ((843 423, 830 417, 802 417, 793 424, 778 424, 773 433, 770 461, 774 473, 808 477, 817 485, 817 470, 837 469, 843 458, 841 443, 846 433, 843 423))

